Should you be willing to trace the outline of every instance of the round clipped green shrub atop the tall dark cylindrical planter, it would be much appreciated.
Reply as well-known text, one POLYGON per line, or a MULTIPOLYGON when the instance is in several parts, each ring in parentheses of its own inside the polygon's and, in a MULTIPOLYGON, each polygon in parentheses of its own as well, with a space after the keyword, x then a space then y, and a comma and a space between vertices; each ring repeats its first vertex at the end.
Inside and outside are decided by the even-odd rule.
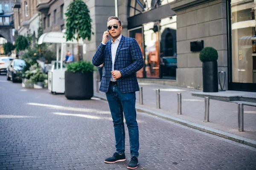
POLYGON ((217 61, 218 52, 213 47, 205 47, 200 52, 199 58, 200 58, 201 62, 217 61))

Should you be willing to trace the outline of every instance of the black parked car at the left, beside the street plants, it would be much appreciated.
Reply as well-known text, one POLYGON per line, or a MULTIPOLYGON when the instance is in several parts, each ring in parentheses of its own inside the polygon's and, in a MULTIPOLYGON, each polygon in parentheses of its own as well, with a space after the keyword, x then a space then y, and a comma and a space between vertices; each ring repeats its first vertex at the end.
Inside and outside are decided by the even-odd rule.
POLYGON ((14 59, 11 64, 7 68, 6 77, 7 80, 11 80, 12 82, 16 82, 22 79, 21 70, 26 65, 23 59, 14 59))

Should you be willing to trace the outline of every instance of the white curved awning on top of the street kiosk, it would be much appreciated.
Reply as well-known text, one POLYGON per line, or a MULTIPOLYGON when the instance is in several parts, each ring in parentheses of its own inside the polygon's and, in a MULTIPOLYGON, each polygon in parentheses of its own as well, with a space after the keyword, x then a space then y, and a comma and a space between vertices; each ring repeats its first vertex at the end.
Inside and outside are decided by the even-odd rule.
MULTIPOLYGON (((38 45, 42 43, 66 43, 77 44, 77 40, 66 41, 66 34, 62 32, 47 32, 42 34, 38 39, 38 45)), ((80 38, 79 45, 83 45, 84 41, 80 38)))

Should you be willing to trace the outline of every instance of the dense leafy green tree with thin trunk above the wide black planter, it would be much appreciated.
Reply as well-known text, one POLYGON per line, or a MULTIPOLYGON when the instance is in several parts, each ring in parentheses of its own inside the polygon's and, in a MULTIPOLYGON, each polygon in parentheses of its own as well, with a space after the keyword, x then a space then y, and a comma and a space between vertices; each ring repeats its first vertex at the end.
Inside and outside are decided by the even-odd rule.
MULTIPOLYGON (((91 34, 91 22, 90 11, 87 5, 83 0, 75 0, 68 6, 67 13, 67 24, 66 24, 66 32, 67 41, 68 40, 79 40, 82 38, 85 40, 86 38, 90 41, 91 34), (77 34, 77 37, 75 37, 77 34)), ((79 43, 77 42, 77 61, 79 61, 79 43)))

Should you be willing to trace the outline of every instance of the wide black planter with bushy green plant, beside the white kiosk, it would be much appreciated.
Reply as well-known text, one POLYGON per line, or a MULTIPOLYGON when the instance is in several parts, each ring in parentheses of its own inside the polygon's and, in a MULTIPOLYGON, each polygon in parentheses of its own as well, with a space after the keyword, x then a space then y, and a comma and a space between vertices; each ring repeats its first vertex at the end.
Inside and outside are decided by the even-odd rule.
POLYGON ((93 97, 94 66, 89 61, 72 62, 65 71, 65 96, 67 99, 93 97))

